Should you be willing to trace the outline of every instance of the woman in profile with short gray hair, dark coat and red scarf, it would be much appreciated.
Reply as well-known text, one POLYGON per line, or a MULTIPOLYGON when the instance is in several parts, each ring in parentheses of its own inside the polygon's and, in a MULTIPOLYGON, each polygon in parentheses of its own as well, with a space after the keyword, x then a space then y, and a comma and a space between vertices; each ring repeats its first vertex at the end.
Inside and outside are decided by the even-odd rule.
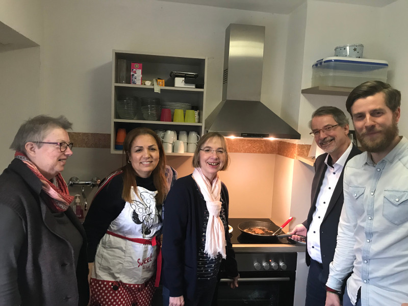
POLYGON ((87 305, 86 237, 61 176, 72 143, 64 117, 24 122, 0 175, 0 304, 87 305))

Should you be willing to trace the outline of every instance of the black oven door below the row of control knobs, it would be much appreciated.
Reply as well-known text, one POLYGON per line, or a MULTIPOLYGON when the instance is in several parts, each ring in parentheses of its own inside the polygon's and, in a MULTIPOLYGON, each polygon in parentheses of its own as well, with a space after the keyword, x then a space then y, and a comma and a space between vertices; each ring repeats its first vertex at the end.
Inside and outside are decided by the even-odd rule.
POLYGON ((218 286, 219 306, 293 306, 295 271, 240 272, 235 289, 228 282, 222 278, 218 286))

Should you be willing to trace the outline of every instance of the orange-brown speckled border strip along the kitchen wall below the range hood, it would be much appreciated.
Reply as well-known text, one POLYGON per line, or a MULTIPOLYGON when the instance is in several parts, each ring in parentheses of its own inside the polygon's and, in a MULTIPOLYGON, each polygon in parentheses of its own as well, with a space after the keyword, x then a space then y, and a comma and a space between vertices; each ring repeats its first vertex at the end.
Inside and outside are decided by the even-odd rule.
MULTIPOLYGON (((68 132, 70 141, 78 148, 107 148, 111 146, 110 134, 68 132)), ((234 153, 278 154, 291 159, 307 157, 310 144, 296 144, 269 139, 226 138, 228 151, 234 153)))

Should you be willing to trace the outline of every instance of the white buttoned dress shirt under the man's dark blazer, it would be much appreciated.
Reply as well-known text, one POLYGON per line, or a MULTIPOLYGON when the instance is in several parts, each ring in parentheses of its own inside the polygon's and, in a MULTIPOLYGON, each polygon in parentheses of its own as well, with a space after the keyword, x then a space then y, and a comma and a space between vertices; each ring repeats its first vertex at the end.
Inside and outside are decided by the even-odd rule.
POLYGON ((327 155, 324 163, 327 165, 326 172, 324 173, 324 178, 322 185, 320 186, 319 194, 316 199, 316 209, 313 213, 313 219, 309 226, 308 231, 308 252, 310 258, 322 263, 322 254, 320 251, 320 225, 322 224, 324 215, 326 214, 328 203, 330 202, 333 191, 339 181, 343 167, 346 164, 348 155, 351 152, 352 143, 344 151, 343 155, 338 159, 338 161, 332 166, 331 157, 327 155), (330 157, 330 163, 328 163, 330 157))

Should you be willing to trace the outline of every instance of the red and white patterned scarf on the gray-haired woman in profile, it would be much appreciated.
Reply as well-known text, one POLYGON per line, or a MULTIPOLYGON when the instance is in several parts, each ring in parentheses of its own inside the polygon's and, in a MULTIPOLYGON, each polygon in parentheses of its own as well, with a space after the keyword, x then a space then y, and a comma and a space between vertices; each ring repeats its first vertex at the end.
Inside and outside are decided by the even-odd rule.
POLYGON ((22 152, 15 152, 14 158, 17 158, 26 164, 29 169, 33 171, 33 173, 40 179, 42 183, 42 190, 51 198, 50 202, 52 204, 49 205, 49 208, 53 212, 65 212, 74 197, 69 195, 68 186, 62 178, 61 173, 58 173, 55 177, 54 185, 40 173, 36 165, 34 165, 22 152))

